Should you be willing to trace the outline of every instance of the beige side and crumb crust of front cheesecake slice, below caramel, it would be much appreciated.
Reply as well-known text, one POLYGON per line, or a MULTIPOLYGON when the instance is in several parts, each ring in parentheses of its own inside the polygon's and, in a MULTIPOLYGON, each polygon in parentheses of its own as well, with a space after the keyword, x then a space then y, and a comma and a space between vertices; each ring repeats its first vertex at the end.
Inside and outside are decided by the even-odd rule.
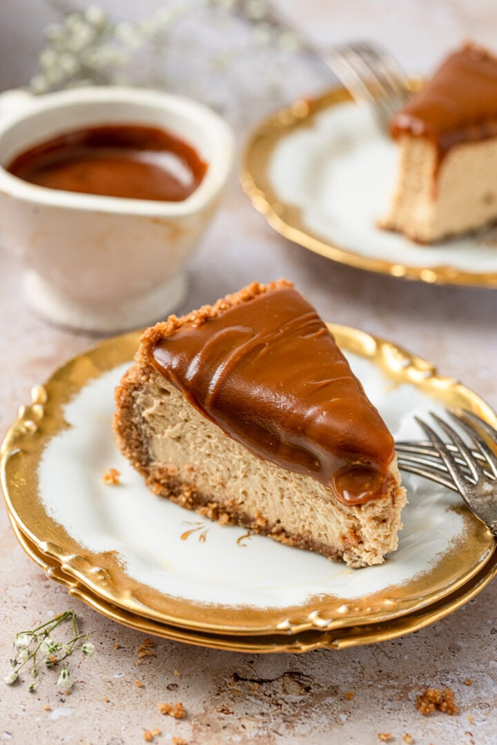
POLYGON ((152 491, 182 507, 352 567, 380 564, 397 548, 406 498, 396 463, 388 495, 345 506, 314 478, 250 453, 139 365, 122 381, 115 428, 152 491))

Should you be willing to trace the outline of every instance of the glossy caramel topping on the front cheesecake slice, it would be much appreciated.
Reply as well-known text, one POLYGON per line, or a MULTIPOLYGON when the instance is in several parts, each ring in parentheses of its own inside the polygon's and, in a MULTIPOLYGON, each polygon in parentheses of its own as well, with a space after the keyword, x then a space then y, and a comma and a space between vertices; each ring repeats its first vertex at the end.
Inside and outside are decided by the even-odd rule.
POLYGON ((384 495, 393 439, 334 338, 290 283, 253 288, 212 317, 180 320, 153 346, 153 367, 259 457, 344 504, 384 495))

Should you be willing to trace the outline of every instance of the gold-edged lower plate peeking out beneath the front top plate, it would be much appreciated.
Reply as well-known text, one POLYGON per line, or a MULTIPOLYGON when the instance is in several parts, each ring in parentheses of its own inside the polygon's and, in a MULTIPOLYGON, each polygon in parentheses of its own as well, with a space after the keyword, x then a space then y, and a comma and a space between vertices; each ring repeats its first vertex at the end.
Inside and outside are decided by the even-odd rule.
POLYGON ((124 626, 146 634, 153 634, 170 639, 171 641, 182 641, 186 644, 197 644, 201 647, 211 647, 232 652, 300 653, 314 649, 340 650, 347 647, 356 647, 361 644, 389 641, 407 633, 419 631, 429 624, 445 618, 446 615, 454 612, 471 600, 472 597, 478 595, 478 592, 481 592, 497 574, 497 554, 494 554, 493 559, 458 591, 443 598, 443 600, 439 600, 437 603, 429 606, 428 609, 421 609, 420 611, 403 615, 400 618, 396 618, 390 622, 384 622, 383 624, 357 626, 335 631, 311 630, 291 635, 268 634, 250 637, 247 635, 203 634, 198 631, 171 627, 167 624, 161 624, 159 621, 151 621, 150 618, 134 615, 119 606, 107 603, 97 595, 93 595, 90 590, 80 585, 74 577, 66 574, 54 559, 48 559, 48 557, 40 554, 37 551, 37 547, 31 543, 28 537, 16 525, 12 516, 10 516, 10 523, 19 544, 25 550, 26 554, 45 571, 47 577, 66 586, 70 595, 82 600, 83 603, 86 603, 86 605, 98 613, 119 624, 124 624, 124 626))

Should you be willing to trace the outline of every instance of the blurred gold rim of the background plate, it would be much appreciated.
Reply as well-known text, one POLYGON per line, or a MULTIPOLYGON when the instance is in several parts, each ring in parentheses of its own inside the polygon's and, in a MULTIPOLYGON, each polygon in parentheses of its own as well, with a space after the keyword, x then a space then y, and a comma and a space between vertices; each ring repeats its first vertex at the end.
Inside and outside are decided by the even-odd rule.
MULTIPOLYGON (((413 88, 419 86, 413 81, 413 88)), ((397 279, 411 279, 429 285, 464 285, 497 288, 497 272, 469 272, 440 264, 436 267, 414 267, 402 261, 373 259, 352 249, 323 240, 303 223, 298 207, 282 202, 270 186, 268 163, 282 137, 299 127, 309 127, 314 117, 329 107, 337 106, 352 97, 342 88, 334 89, 318 98, 296 101, 291 107, 265 118, 250 136, 242 157, 240 183, 257 212, 284 238, 304 248, 326 256, 339 264, 374 273, 387 274, 397 279)))

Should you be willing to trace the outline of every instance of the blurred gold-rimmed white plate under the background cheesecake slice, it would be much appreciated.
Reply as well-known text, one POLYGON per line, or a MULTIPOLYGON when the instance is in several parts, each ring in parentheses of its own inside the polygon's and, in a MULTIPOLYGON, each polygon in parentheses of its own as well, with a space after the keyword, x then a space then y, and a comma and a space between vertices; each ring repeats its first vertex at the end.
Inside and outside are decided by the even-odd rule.
POLYGON ((277 232, 328 259, 430 284, 497 288, 495 230, 422 246, 379 229, 397 155, 370 113, 335 89, 259 124, 241 185, 277 232))

